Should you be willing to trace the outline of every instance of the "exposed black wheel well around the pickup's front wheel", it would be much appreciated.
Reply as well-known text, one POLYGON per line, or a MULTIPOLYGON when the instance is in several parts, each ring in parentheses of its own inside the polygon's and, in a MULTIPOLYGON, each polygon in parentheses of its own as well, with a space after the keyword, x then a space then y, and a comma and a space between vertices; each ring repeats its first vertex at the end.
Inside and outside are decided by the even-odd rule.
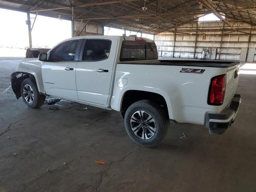
POLYGON ((17 99, 21 97, 21 92, 20 92, 21 84, 27 78, 32 78, 36 83, 36 78, 34 77, 34 75, 30 73, 14 72, 11 74, 12 90, 15 93, 17 99))

